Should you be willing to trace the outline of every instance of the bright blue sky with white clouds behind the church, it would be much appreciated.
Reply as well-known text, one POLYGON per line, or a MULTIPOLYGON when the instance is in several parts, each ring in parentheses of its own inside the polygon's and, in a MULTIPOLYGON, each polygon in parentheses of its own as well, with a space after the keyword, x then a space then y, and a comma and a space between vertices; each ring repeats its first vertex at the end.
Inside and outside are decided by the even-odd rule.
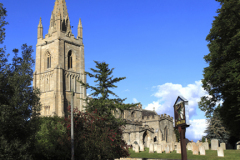
MULTIPOLYGON (((37 43, 37 26, 42 17, 47 34, 55 0, 2 0, 7 9, 7 53, 22 44, 37 43)), ((208 64, 208 35, 220 4, 215 0, 66 0, 77 35, 79 18, 83 25, 85 68, 95 61, 115 68, 114 77, 126 77, 113 89, 125 103, 141 102, 143 109, 173 116, 178 95, 189 101, 191 127, 186 138, 197 141, 207 126, 198 109, 203 69, 208 64)), ((10 58, 12 55, 10 56, 10 58)), ((33 54, 35 58, 35 52, 33 54)), ((35 69, 35 68, 33 68, 35 69)), ((94 79, 87 82, 94 85, 94 79)), ((90 94, 90 91, 87 91, 90 94)))

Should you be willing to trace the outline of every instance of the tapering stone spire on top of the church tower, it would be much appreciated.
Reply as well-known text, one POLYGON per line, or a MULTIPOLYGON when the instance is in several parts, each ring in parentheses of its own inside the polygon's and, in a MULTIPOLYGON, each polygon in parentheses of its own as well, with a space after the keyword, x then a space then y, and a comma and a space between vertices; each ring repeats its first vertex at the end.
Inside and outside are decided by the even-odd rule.
POLYGON ((56 31, 72 33, 65 0, 56 0, 52 11, 48 33, 56 31))

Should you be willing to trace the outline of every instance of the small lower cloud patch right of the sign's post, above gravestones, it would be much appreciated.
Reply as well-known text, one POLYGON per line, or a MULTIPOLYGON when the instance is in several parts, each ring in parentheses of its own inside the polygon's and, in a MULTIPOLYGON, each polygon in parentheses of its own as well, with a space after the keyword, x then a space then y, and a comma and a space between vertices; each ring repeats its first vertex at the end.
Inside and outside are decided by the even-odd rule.
POLYGON ((201 140, 202 136, 205 136, 206 133, 204 131, 207 128, 207 120, 206 119, 193 119, 190 120, 190 127, 186 130, 186 138, 190 141, 193 140, 196 142, 197 140, 201 140))

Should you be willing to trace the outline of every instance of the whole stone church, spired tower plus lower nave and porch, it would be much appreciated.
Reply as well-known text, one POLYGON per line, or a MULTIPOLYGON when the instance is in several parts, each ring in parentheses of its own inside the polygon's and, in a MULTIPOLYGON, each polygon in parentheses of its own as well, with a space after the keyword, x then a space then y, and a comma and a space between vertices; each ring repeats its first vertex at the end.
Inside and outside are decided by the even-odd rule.
MULTIPOLYGON (((74 108, 84 112, 86 88, 77 81, 86 83, 83 28, 78 24, 78 35, 74 37, 65 0, 56 0, 51 14, 48 33, 43 36, 42 20, 37 29, 36 64, 33 86, 41 92, 41 116, 64 117, 74 93, 74 108)), ((142 105, 113 113, 126 120, 123 140, 128 145, 150 143, 174 143, 173 117, 158 115, 154 110, 142 109, 142 105)))

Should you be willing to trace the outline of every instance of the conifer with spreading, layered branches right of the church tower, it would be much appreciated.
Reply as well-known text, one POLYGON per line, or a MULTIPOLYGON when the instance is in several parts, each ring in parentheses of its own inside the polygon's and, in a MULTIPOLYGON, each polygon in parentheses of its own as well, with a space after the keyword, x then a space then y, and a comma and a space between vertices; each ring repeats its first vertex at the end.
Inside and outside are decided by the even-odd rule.
MULTIPOLYGON (((116 88, 117 86, 114 85, 115 83, 125 79, 126 77, 120 77, 120 78, 113 78, 111 76, 113 69, 108 68, 108 64, 105 62, 99 63, 97 61, 94 61, 96 63, 96 68, 98 69, 93 69, 91 70, 95 74, 91 74, 89 72, 85 72, 86 75, 90 77, 96 78, 94 82, 97 82, 97 87, 90 86, 88 83, 83 83, 82 81, 79 81, 81 85, 86 87, 86 89, 90 88, 92 91, 94 91, 90 96, 93 96, 93 98, 87 97, 85 99, 86 105, 84 108, 86 109, 87 112, 92 113, 97 109, 97 113, 99 116, 105 118, 105 127, 104 128, 109 128, 112 130, 114 133, 118 133, 118 146, 121 146, 122 144, 122 135, 119 129, 123 129, 122 127, 126 125, 126 122, 119 118, 115 118, 113 113, 115 112, 123 112, 124 110, 130 109, 132 107, 136 107, 139 103, 136 104, 124 104, 123 101, 125 99, 120 99, 120 98, 113 98, 110 99, 109 95, 113 95, 115 97, 118 97, 115 93, 113 93, 110 89, 111 88, 116 88)), ((99 139, 100 140, 100 139, 99 139)), ((108 146, 111 148, 111 146, 108 146)), ((117 149, 117 148, 115 148, 117 149)), ((118 148, 122 149, 122 148, 118 148)), ((115 150, 113 153, 117 153, 119 150, 115 150)), ((112 157, 112 158, 119 158, 121 155, 115 155, 117 157, 112 157)))

